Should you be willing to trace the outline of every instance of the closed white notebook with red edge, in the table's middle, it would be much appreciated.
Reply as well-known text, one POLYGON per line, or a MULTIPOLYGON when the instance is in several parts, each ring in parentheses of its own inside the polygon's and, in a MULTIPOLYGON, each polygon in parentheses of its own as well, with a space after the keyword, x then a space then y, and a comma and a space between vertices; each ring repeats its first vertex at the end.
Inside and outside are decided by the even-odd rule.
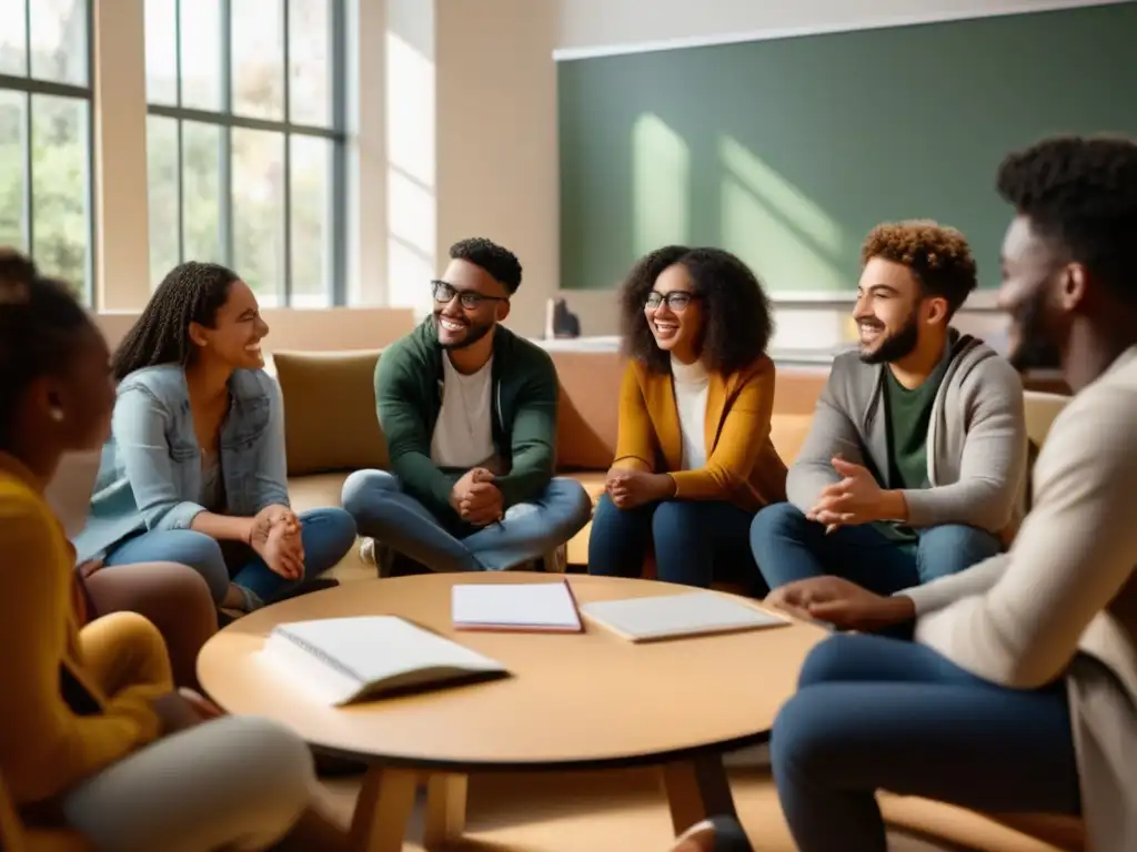
POLYGON ((463 583, 450 598, 458 630, 582 633, 576 596, 567 579, 543 583, 463 583))

